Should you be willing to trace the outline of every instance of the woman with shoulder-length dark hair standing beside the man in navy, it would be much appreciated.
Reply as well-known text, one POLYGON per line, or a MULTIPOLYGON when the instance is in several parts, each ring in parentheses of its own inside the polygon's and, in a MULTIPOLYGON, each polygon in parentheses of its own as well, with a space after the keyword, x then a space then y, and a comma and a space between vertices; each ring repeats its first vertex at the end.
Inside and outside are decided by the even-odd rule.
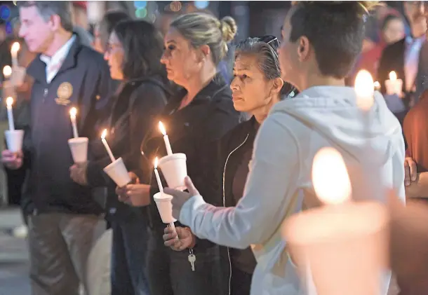
MULTIPOLYGON (((121 81, 105 126, 110 130, 109 146, 115 156, 123 159, 128 171, 142 171, 138 179, 143 184, 149 181, 149 165, 143 162, 140 144, 154 128, 154 118, 161 113, 170 94, 165 70, 159 62, 162 43, 162 36, 153 25, 126 20, 114 27, 105 53, 110 75, 121 81)), ((113 231, 112 295, 147 295, 146 219, 140 208, 119 202, 115 184, 102 171, 111 160, 100 141, 94 143, 94 149, 103 157, 86 165, 74 165, 71 176, 79 184, 108 187, 107 219, 113 231)))

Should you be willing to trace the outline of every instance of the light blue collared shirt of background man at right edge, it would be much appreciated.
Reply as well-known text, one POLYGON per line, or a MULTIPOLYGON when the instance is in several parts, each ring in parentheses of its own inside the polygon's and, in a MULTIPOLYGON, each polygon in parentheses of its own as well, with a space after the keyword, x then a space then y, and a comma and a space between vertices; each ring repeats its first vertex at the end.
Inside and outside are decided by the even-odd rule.
POLYGON ((417 74, 417 63, 419 62, 419 53, 426 36, 413 39, 406 37, 406 48, 404 50, 404 74, 406 75, 406 91, 413 91, 415 78, 417 74))

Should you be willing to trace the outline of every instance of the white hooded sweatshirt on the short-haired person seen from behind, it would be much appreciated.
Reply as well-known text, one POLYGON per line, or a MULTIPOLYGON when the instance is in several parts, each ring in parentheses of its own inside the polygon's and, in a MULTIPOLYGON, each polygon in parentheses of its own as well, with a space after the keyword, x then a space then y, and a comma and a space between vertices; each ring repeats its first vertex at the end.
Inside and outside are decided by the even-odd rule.
MULTIPOLYGON (((252 295, 305 294, 286 254, 281 224, 306 201, 297 197, 307 195, 300 192, 313 193, 312 161, 319 149, 333 146, 345 162, 361 162, 370 157, 363 150, 369 137, 375 154, 381 155, 373 160, 382 164, 382 181, 405 200, 401 126, 379 92, 370 112, 373 122, 367 132, 354 88, 348 87, 317 86, 279 102, 255 139, 238 205, 214 207, 196 195, 183 205, 180 221, 199 238, 238 249, 253 247, 258 265, 252 295)), ((382 294, 387 293, 389 277, 382 282, 382 294)))

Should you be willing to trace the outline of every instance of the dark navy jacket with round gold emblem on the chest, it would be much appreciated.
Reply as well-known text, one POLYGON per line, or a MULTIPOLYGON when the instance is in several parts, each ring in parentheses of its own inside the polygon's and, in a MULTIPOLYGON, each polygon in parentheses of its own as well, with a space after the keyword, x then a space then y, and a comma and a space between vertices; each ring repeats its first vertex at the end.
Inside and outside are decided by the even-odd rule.
MULTIPOLYGON (((95 125, 112 92, 107 63, 100 53, 83 46, 77 36, 51 83, 46 83, 46 64, 39 56, 27 73, 34 77, 31 128, 25 133, 24 146, 29 178, 23 194, 31 200, 30 211, 102 213, 91 196, 91 188, 80 186, 69 177, 73 160, 67 140, 72 137, 71 107, 78 109, 79 136, 88 137, 90 142, 100 137, 95 125)), ((90 150, 88 159, 91 158, 90 150)))

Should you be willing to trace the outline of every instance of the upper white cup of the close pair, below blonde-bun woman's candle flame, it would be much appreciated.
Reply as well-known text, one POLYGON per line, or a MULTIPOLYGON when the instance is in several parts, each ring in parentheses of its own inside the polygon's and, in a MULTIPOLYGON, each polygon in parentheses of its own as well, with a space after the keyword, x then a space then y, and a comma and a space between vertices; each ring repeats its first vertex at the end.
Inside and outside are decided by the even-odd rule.
POLYGON ((186 188, 185 177, 187 176, 187 165, 184 153, 174 153, 170 156, 164 156, 159 160, 159 167, 161 167, 168 187, 175 189, 186 188))

